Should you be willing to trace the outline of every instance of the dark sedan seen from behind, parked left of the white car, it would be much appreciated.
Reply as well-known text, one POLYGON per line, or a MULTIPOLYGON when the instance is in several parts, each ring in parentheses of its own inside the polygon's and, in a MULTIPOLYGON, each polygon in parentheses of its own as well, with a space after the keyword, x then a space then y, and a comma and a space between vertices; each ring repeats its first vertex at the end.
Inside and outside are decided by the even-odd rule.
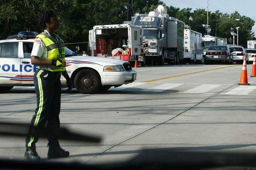
POLYGON ((204 61, 205 64, 212 64, 217 61, 233 64, 233 55, 226 45, 212 45, 208 48, 204 61))

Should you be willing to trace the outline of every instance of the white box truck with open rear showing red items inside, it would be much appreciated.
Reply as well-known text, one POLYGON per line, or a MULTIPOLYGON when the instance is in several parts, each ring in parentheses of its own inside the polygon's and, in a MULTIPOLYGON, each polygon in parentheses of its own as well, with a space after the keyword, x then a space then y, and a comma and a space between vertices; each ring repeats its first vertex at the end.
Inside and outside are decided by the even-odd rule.
MULTIPOLYGON (((92 56, 111 57, 135 62, 141 55, 142 28, 130 24, 93 26, 89 31, 89 48, 92 56), (121 48, 115 56, 112 51, 121 48)), ((132 63, 133 64, 133 63, 132 63)))

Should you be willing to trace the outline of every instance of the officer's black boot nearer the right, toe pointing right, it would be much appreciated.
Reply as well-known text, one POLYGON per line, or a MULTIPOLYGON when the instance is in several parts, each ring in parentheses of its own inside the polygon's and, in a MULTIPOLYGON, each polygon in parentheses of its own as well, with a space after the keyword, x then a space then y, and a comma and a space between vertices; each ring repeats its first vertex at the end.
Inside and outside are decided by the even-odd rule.
POLYGON ((60 146, 51 147, 48 144, 49 150, 47 154, 48 159, 55 159, 55 158, 67 158, 69 156, 69 152, 62 149, 60 146))

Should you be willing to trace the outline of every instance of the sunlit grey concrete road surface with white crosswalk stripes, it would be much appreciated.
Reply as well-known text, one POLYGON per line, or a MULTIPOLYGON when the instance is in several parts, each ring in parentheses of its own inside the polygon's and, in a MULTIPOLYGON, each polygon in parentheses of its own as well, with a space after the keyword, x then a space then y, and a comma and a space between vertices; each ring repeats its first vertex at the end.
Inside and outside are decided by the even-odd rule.
MULTIPOLYGON (((101 144, 61 141, 70 157, 86 163, 123 161, 144 148, 256 152, 256 78, 237 85, 241 65, 164 65, 137 68, 137 81, 102 94, 63 89, 61 125, 102 136, 101 144)), ((0 94, 0 120, 29 123, 33 88, 0 94)), ((24 138, 0 138, 0 156, 21 158, 24 138)), ((47 140, 38 154, 47 157, 47 140)))

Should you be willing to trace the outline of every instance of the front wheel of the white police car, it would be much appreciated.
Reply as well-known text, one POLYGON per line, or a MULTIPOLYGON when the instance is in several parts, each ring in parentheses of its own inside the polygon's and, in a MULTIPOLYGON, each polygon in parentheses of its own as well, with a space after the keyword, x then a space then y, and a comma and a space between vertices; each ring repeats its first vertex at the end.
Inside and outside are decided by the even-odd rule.
POLYGON ((99 75, 89 69, 79 71, 74 83, 77 91, 81 94, 94 94, 99 90, 101 84, 99 75))

